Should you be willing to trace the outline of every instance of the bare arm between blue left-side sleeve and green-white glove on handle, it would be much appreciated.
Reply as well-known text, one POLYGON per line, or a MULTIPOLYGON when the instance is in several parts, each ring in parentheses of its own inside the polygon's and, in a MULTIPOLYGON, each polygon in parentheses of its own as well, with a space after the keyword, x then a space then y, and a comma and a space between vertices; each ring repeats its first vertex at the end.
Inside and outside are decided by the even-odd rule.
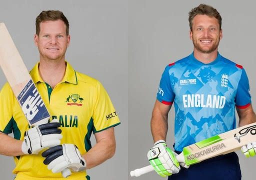
POLYGON ((151 133, 154 142, 157 140, 166 140, 168 130, 167 117, 170 107, 171 105, 163 104, 157 99, 155 100, 151 118, 151 133))

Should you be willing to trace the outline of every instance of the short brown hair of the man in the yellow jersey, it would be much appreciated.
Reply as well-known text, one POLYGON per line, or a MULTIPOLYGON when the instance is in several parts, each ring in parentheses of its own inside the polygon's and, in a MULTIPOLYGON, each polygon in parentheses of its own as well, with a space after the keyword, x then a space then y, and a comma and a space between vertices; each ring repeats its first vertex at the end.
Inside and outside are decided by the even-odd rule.
POLYGON ((69 23, 64 14, 59 10, 43 10, 35 19, 35 33, 39 35, 40 23, 47 20, 62 20, 66 25, 66 35, 68 35, 69 23))

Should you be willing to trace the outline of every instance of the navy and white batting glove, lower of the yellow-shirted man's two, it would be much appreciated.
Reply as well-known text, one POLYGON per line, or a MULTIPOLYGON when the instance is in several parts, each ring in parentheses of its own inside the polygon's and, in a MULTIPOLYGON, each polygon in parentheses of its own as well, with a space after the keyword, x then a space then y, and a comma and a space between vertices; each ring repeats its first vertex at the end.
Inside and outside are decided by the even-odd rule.
POLYGON ((80 154, 80 151, 74 144, 62 144, 42 152, 42 156, 46 157, 43 160, 44 164, 48 164, 48 169, 53 173, 60 172, 65 168, 70 168, 71 171, 85 170, 86 162, 80 154))

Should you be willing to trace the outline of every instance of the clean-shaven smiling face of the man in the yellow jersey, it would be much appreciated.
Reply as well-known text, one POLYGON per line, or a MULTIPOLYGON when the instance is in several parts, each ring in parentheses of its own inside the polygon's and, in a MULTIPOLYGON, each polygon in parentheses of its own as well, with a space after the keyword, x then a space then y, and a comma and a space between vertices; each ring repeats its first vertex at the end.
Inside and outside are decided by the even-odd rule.
POLYGON ((62 20, 48 20, 40 23, 39 35, 34 35, 40 58, 62 59, 70 42, 66 34, 66 25, 62 20))

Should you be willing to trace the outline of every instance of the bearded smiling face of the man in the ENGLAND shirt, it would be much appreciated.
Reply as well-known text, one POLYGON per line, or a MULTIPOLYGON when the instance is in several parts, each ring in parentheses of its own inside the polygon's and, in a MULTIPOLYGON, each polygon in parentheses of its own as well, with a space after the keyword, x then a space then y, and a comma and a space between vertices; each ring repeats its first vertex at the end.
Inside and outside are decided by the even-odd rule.
POLYGON ((218 20, 207 15, 195 15, 192 20, 190 39, 194 49, 201 53, 217 51, 219 40, 222 38, 222 30, 219 30, 218 20))

